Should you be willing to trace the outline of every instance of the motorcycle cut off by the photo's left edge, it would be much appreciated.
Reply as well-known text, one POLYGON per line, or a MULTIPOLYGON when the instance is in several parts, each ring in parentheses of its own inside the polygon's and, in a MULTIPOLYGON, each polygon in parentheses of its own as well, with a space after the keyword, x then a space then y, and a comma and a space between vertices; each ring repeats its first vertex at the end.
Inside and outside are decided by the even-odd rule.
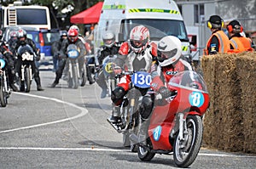
POLYGON ((0 104, 2 107, 6 107, 10 95, 6 65, 6 60, 0 58, 0 104))

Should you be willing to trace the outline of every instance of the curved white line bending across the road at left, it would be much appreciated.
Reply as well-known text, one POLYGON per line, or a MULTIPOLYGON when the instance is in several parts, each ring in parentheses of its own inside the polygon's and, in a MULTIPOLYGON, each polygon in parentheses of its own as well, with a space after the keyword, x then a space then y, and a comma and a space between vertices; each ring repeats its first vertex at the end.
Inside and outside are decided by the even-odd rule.
POLYGON ((0 133, 15 132, 15 131, 18 131, 18 130, 24 130, 24 129, 33 128, 33 127, 43 127, 43 126, 50 125, 50 124, 56 124, 56 123, 60 123, 60 122, 64 122, 64 121, 70 121, 70 120, 79 118, 79 117, 81 117, 83 115, 86 115, 88 113, 87 109, 85 109, 83 107, 79 107, 76 104, 65 102, 65 101, 60 100, 60 99, 53 99, 53 98, 33 95, 33 94, 29 94, 29 93, 16 93, 16 94, 26 95, 26 96, 30 96, 30 97, 34 97, 34 98, 39 98, 39 99, 52 100, 52 101, 55 101, 55 102, 61 103, 61 104, 67 104, 67 105, 73 106, 74 108, 77 108, 77 109, 81 110, 81 113, 79 115, 75 115, 73 117, 69 117, 69 118, 66 118, 66 119, 61 119, 61 120, 58 120, 58 121, 50 121, 50 122, 45 122, 45 123, 41 123, 41 124, 37 124, 37 125, 32 125, 32 126, 28 126, 28 127, 19 127, 19 128, 9 129, 9 130, 3 130, 3 131, 0 131, 0 133))

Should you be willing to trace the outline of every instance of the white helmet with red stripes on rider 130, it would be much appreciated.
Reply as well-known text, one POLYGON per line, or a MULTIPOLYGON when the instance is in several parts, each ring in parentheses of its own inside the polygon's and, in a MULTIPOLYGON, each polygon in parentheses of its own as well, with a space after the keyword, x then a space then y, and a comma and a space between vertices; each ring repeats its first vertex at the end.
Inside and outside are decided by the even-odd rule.
POLYGON ((147 48, 149 43, 148 28, 143 25, 137 25, 132 28, 130 32, 130 39, 128 41, 131 50, 135 53, 141 53, 147 48))

